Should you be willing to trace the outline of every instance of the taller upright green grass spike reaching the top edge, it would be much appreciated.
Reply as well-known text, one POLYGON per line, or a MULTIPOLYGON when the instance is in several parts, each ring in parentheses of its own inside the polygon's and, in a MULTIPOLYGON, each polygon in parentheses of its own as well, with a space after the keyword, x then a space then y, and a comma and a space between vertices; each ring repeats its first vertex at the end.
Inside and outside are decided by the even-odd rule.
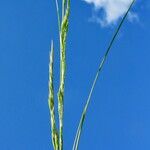
POLYGON ((66 38, 68 33, 68 23, 70 14, 70 0, 63 1, 62 22, 60 30, 60 85, 58 91, 58 114, 59 114, 59 148, 63 149, 63 114, 64 114, 64 85, 66 74, 66 38), (66 9, 65 9, 66 8, 66 9))

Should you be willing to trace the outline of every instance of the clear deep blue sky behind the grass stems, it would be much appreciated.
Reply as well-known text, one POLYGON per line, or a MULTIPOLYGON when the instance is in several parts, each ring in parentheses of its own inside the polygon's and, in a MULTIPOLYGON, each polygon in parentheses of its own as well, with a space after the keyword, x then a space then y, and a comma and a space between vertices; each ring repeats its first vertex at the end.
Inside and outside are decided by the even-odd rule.
MULTIPOLYGON (((65 150, 72 147, 96 69, 116 27, 89 21, 93 9, 82 0, 71 3, 65 150)), ((82 150, 150 149, 150 2, 137 0, 133 11, 139 21, 125 22, 93 93, 79 147, 82 150)), ((47 98, 52 38, 58 89, 55 12, 52 0, 0 1, 1 150, 52 149, 47 98)))

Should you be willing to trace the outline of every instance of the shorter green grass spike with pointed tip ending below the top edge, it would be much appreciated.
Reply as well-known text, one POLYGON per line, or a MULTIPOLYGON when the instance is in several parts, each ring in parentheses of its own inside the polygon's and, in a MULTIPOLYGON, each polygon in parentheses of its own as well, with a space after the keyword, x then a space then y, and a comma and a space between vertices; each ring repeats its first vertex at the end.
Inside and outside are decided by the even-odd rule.
POLYGON ((59 137, 55 122, 55 109, 54 109, 54 85, 53 85, 53 60, 54 60, 54 46, 51 42, 50 64, 49 64, 49 97, 48 104, 51 116, 51 135, 54 150, 59 150, 59 137))

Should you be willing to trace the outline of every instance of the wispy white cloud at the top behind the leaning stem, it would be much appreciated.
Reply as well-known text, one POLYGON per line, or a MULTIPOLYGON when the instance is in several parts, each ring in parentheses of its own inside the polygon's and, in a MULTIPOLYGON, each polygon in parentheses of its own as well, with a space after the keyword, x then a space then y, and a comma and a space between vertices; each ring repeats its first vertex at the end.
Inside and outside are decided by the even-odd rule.
MULTIPOLYGON (((89 4, 93 4, 96 11, 103 10, 103 18, 99 18, 93 15, 92 21, 99 22, 101 25, 108 25, 115 23, 120 17, 122 17, 132 0, 83 0, 89 4)), ((95 12, 96 12, 95 11, 95 12)), ((130 19, 137 18, 136 14, 130 13, 130 19)))

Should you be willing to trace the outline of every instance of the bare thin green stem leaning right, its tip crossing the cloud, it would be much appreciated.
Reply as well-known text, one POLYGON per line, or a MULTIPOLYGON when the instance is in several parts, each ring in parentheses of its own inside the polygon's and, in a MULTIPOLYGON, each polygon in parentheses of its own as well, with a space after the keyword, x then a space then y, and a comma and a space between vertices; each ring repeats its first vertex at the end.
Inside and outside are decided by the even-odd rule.
POLYGON ((129 11, 130 11, 132 5, 134 4, 134 2, 135 2, 135 0, 132 1, 131 5, 129 6, 129 9, 127 10, 126 14, 125 14, 124 17, 122 18, 122 20, 121 20, 121 22, 120 22, 118 28, 116 29, 115 34, 114 34, 114 36, 113 36, 113 38, 112 38, 112 40, 111 40, 111 42, 110 42, 110 44, 109 44, 109 46, 108 46, 108 48, 107 48, 107 50, 106 50, 106 53, 105 53, 104 57, 102 58, 102 61, 101 61, 100 65, 99 65, 99 68, 98 68, 98 70, 97 70, 95 79, 94 79, 94 81, 93 81, 93 84, 92 84, 92 87, 91 87, 91 90, 90 90, 90 93, 89 93, 87 102, 86 102, 86 104, 85 104, 84 110, 83 110, 82 115, 81 115, 81 119, 80 119, 80 122, 79 122, 79 126, 78 126, 78 129, 77 129, 76 136, 75 136, 75 140, 74 140, 74 144, 73 144, 73 150, 78 150, 79 141, 80 141, 80 136, 81 136, 81 132, 82 132, 82 129, 83 129, 83 124, 84 124, 84 121, 85 121, 87 109, 88 109, 89 103, 90 103, 90 101, 91 101, 91 96, 92 96, 93 90, 94 90, 94 88, 95 88, 95 85, 96 85, 96 83, 97 83, 97 80, 98 80, 98 77, 99 77, 99 75, 100 75, 100 72, 101 72, 101 70, 103 69, 104 63, 105 63, 105 61, 106 61, 106 59, 107 59, 107 56, 108 56, 108 54, 109 54, 109 52, 110 52, 110 49, 112 48, 112 45, 113 45, 113 43, 114 43, 114 41, 115 41, 115 39, 116 39, 116 37, 117 37, 117 35, 118 35, 118 33, 119 33, 119 31, 120 31, 120 29, 121 29, 123 23, 124 23, 124 21, 125 21, 127 15, 128 15, 128 13, 129 13, 129 11))

